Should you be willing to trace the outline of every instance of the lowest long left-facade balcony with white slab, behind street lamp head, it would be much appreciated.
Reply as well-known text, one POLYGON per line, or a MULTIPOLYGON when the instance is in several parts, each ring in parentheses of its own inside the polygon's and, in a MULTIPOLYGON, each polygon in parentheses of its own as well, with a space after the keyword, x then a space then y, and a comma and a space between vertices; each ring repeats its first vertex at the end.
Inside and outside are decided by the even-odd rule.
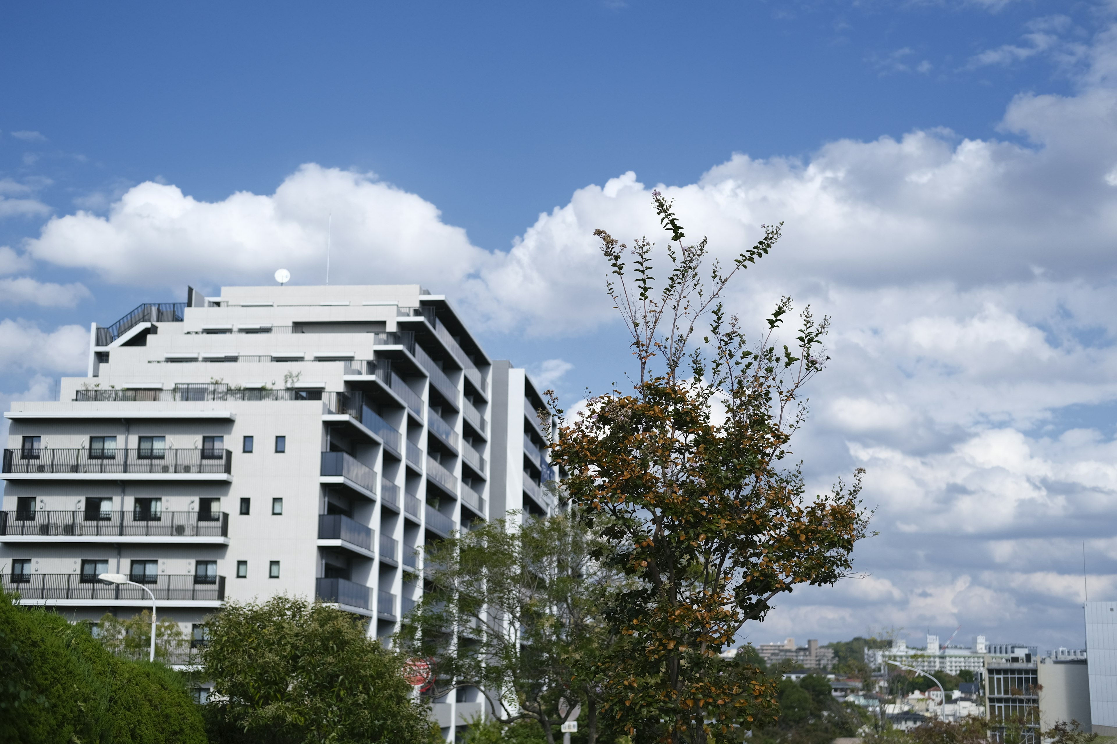
MULTIPOLYGON (((102 583, 80 573, 29 573, 2 577, 4 591, 17 591, 25 605, 58 605, 63 607, 151 607, 151 598, 140 587, 102 583)), ((200 583, 192 574, 160 573, 144 586, 155 596, 160 607, 218 607, 225 600, 225 577, 200 583)))

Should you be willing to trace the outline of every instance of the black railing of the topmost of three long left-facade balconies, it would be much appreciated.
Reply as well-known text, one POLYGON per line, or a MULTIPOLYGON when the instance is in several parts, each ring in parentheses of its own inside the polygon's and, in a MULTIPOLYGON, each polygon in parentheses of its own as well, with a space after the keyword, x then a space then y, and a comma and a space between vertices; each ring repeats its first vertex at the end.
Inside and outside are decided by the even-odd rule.
POLYGON ((4 473, 226 473, 228 450, 4 450, 4 473))

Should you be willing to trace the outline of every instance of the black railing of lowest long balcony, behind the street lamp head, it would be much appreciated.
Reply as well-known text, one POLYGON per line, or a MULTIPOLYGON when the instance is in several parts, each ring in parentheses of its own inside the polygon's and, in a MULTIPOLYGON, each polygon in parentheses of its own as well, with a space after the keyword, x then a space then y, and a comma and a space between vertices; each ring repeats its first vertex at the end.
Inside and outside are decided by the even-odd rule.
MULTIPOLYGON (((132 577, 130 577, 132 579, 132 577)), ((225 599, 225 577, 199 577, 190 573, 159 573, 136 580, 146 587, 155 601, 221 601, 225 599), (150 579, 150 580, 149 580, 150 579), (212 579, 216 579, 213 581, 212 579)), ((140 587, 102 583, 87 573, 25 573, 2 576, 4 591, 17 591, 22 599, 78 599, 88 601, 125 600, 147 605, 151 599, 140 587)))

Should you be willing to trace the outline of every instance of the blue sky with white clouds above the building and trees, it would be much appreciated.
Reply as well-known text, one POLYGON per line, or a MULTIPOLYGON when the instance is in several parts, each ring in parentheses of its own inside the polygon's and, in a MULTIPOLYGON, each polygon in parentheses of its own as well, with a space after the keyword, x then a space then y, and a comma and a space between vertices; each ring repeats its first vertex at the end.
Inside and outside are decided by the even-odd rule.
POLYGON ((961 624, 1080 645, 1066 557, 1086 541, 1117 591, 1115 16, 8 7, 0 402, 48 396, 90 320, 187 283, 321 281, 333 213, 337 271, 447 293, 574 403, 627 364, 592 230, 655 234, 658 184, 715 254, 786 221, 731 306, 791 293, 834 317, 796 454, 820 490, 865 465, 879 504, 870 576, 796 593, 754 639, 961 624))

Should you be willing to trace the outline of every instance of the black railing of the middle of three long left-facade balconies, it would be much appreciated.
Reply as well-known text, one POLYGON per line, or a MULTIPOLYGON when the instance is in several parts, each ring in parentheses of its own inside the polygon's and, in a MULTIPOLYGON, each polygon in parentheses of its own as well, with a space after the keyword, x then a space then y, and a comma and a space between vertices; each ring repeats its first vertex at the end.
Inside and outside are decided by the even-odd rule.
POLYGON ((229 515, 221 512, 0 512, 0 534, 64 538, 226 538, 229 515), (147 519, 142 519, 146 516, 147 519))

